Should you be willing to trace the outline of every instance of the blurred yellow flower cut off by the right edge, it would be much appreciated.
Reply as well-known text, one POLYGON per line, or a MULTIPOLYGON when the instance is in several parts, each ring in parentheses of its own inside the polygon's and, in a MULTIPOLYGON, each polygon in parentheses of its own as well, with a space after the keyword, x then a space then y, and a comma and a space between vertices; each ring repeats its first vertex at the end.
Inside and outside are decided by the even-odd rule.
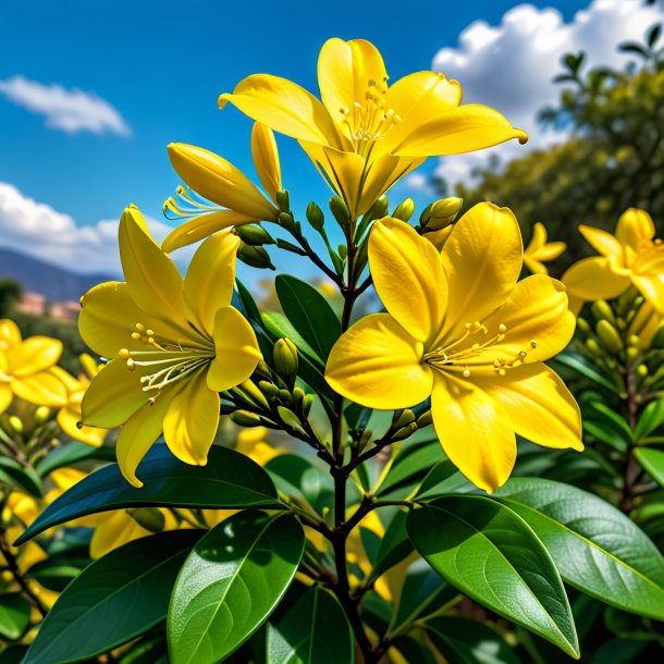
POLYGON ((664 245, 654 239, 655 226, 648 212, 630 208, 616 224, 615 235, 580 225, 588 243, 601 254, 582 258, 563 274, 570 299, 617 297, 634 284, 641 295, 664 313, 664 245))

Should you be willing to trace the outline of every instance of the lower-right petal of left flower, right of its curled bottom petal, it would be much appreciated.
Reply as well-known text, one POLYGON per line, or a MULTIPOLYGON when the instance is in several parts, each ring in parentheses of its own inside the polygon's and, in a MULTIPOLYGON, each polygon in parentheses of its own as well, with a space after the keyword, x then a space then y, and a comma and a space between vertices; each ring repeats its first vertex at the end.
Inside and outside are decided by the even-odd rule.
POLYGON ((205 466, 219 426, 219 394, 208 388, 205 371, 186 381, 163 419, 169 450, 185 464, 205 466))

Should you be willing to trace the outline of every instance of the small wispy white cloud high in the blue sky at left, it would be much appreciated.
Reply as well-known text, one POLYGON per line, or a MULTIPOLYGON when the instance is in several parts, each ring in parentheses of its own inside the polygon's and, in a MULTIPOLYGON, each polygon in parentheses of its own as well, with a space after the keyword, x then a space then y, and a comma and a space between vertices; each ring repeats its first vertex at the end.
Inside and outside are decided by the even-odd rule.
POLYGON ((45 115, 46 126, 67 134, 130 136, 132 133, 118 110, 95 93, 58 84, 44 85, 20 75, 0 81, 0 93, 32 113, 45 115))

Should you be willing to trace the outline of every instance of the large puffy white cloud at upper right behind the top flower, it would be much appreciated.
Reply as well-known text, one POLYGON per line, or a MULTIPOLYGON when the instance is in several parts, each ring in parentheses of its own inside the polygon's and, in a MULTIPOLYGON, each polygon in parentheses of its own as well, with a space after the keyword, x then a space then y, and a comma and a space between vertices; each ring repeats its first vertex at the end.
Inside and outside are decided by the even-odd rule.
POLYGON ((588 9, 565 23, 552 8, 519 4, 503 16, 501 25, 471 23, 456 48, 443 48, 433 59, 433 70, 457 78, 465 103, 484 103, 505 113, 513 125, 530 134, 527 146, 511 142, 502 146, 441 159, 438 173, 450 182, 471 180, 472 170, 493 156, 501 162, 565 139, 566 134, 543 132, 538 111, 555 106, 560 85, 552 78, 562 72, 561 58, 580 50, 587 64, 622 65, 629 56, 616 46, 626 40, 642 41, 647 29, 664 21, 664 3, 645 5, 642 0, 593 0, 588 9))

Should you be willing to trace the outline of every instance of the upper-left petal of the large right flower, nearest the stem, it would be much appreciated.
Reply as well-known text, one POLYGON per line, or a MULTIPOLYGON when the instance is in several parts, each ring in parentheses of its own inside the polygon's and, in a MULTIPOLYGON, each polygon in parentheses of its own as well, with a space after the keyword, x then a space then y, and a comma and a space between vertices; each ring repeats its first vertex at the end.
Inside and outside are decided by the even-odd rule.
POLYGON ((386 217, 369 237, 369 268, 388 311, 410 335, 435 335, 447 306, 447 287, 435 247, 413 226, 386 217))

